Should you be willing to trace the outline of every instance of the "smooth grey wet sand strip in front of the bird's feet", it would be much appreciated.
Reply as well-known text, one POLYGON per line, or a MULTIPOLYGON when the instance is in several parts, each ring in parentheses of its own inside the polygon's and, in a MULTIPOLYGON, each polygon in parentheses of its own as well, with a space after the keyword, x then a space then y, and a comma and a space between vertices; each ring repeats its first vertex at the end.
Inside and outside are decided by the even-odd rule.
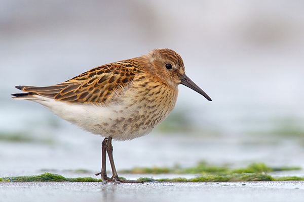
POLYGON ((304 182, 1 182, 0 201, 303 201, 304 182))

